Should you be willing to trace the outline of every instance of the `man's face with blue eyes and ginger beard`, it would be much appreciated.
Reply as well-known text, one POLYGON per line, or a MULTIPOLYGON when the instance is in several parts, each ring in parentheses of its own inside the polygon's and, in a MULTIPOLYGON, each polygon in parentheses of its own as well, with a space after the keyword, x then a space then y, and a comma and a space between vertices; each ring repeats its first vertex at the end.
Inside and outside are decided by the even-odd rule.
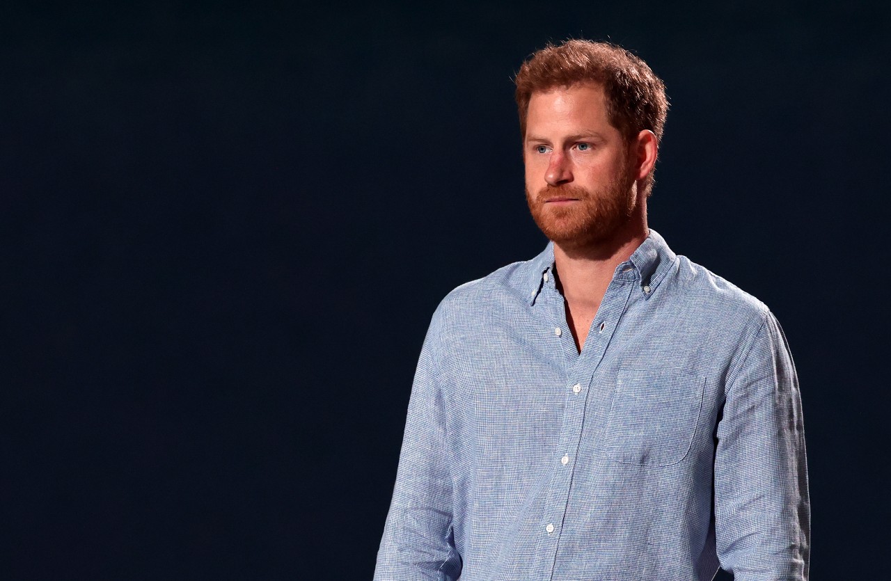
POLYGON ((535 224, 561 248, 607 241, 632 217, 634 163, 622 134, 609 124, 601 86, 532 94, 523 160, 535 224))

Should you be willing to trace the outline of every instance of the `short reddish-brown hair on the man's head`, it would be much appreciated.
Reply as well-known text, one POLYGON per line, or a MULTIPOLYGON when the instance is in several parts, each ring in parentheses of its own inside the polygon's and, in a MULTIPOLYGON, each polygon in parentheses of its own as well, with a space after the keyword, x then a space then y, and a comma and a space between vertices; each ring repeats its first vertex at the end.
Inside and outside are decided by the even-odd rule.
POLYGON ((662 140, 668 99, 662 79, 647 63, 624 48, 591 40, 570 39, 535 51, 519 68, 514 81, 519 110, 519 129, 526 138, 526 117, 533 93, 560 86, 596 83, 603 87, 607 116, 630 141, 650 129, 662 140))

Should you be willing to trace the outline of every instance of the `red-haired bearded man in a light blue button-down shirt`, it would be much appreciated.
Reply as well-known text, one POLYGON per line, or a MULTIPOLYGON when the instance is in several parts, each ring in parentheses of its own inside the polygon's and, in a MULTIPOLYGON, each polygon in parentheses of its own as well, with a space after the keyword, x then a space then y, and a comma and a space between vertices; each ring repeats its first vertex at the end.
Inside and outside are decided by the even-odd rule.
POLYGON ((375 579, 806 579, 780 326, 647 226, 662 82, 570 40, 516 83, 527 202, 551 243, 433 315, 375 579))

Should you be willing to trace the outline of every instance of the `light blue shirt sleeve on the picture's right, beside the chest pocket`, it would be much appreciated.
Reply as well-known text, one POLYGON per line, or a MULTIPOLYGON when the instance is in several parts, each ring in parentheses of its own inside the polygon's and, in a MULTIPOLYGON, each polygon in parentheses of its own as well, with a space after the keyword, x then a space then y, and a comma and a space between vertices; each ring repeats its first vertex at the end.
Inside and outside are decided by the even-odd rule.
POLYGON ((715 449, 715 538, 736 581, 806 581, 811 510, 801 397, 767 313, 732 372, 715 449))

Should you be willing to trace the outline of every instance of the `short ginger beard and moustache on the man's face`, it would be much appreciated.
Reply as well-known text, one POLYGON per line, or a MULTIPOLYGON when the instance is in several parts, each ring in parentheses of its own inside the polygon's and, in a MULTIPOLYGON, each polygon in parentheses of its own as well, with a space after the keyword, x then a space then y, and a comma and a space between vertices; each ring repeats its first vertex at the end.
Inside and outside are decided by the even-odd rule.
POLYGON ((637 188, 631 168, 597 191, 570 184, 546 185, 535 195, 526 189, 526 201, 539 229, 564 250, 590 248, 609 241, 627 225, 637 206, 637 188), (566 206, 548 204, 554 198, 571 198, 566 206))

